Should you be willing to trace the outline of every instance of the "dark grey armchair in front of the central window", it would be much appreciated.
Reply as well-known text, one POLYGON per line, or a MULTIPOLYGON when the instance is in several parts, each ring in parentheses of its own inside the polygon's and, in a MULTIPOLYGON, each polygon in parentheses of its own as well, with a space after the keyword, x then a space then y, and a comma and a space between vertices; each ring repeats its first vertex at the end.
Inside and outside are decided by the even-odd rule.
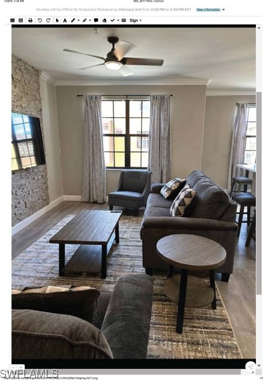
POLYGON ((151 188, 152 172, 142 169, 122 170, 115 192, 108 194, 109 209, 113 206, 134 208, 135 216, 138 208, 145 206, 151 188))

